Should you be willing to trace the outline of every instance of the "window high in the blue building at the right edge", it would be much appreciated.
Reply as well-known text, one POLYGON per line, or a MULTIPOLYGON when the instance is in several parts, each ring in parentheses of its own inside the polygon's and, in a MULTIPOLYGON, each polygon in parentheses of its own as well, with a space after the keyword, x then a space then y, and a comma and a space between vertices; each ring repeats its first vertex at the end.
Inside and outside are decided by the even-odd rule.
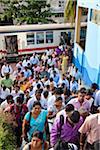
POLYGON ((90 21, 100 25, 100 10, 91 9, 90 21))

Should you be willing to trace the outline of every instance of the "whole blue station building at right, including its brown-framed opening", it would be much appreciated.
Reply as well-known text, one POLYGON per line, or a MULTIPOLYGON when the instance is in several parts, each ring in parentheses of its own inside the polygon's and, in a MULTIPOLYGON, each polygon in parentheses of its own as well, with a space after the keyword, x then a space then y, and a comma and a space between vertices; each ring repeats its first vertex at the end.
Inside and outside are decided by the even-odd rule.
POLYGON ((100 87, 100 0, 78 0, 74 45, 74 63, 82 72, 87 85, 95 82, 100 87), (80 41, 82 9, 87 10, 87 30, 80 41))

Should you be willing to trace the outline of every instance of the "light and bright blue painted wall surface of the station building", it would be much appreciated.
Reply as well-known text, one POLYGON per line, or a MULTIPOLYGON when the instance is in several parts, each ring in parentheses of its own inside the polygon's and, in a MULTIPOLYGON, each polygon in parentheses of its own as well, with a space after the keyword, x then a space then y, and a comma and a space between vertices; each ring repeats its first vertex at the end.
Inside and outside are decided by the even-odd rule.
POLYGON ((100 7, 96 8, 99 0, 92 2, 90 2, 91 0, 84 0, 83 3, 82 1, 79 0, 80 3, 78 4, 89 8, 86 45, 85 50, 82 50, 75 42, 74 63, 82 72, 83 79, 87 85, 95 82, 100 86, 100 25, 90 21, 90 9, 100 10, 100 7))

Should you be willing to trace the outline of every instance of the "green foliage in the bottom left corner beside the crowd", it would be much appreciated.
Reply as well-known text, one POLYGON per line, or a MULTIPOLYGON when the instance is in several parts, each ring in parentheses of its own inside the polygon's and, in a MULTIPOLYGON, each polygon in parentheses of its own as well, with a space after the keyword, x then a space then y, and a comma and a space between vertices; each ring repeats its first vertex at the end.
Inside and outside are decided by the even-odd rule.
POLYGON ((15 150, 16 137, 14 135, 14 126, 11 123, 10 115, 0 112, 0 150, 15 150))

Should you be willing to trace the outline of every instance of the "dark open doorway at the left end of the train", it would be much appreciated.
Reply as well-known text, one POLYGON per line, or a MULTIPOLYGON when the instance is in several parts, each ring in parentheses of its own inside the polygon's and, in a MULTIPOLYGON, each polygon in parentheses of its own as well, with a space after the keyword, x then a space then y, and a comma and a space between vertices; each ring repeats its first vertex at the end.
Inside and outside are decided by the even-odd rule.
POLYGON ((7 55, 14 56, 18 54, 17 35, 5 36, 5 47, 7 55))

